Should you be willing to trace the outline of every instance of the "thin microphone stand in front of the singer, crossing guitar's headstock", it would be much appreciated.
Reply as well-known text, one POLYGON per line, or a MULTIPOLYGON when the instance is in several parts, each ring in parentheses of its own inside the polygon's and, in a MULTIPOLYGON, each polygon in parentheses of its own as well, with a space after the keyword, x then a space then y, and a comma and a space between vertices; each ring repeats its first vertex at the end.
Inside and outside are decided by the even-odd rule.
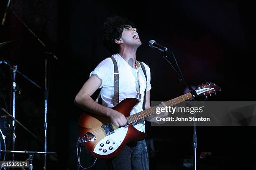
MULTIPOLYGON (((189 84, 187 84, 187 82, 185 81, 185 78, 182 75, 182 72, 180 70, 180 67, 178 65, 178 62, 176 60, 175 55, 170 50, 168 50, 168 52, 171 53, 172 56, 174 57, 174 60, 175 60, 175 63, 177 65, 178 69, 179 69, 179 72, 176 70, 176 68, 169 61, 169 58, 166 54, 166 51, 162 50, 162 56, 164 57, 164 59, 166 59, 167 62, 169 62, 169 64, 174 69, 174 71, 179 75, 179 81, 183 82, 187 86, 187 88, 189 89, 189 92, 192 94, 193 100, 199 100, 197 92, 194 89, 192 89, 192 87, 189 84)), ((195 123, 195 121, 194 121, 194 132, 193 132, 193 170, 197 170, 197 133, 196 133, 196 123, 195 123)))

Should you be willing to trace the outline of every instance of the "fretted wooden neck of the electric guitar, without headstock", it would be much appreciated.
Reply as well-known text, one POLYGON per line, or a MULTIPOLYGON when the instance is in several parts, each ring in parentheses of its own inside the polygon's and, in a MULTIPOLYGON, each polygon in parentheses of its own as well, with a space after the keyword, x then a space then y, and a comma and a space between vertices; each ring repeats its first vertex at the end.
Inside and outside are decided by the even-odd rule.
MULTIPOLYGON (((189 93, 187 93, 185 95, 181 95, 179 97, 176 97, 176 98, 174 98, 172 100, 169 100, 169 101, 166 101, 164 103, 165 103, 166 106, 174 106, 174 105, 177 105, 177 104, 179 104, 181 102, 184 102, 185 100, 189 100, 192 97, 193 97, 192 94, 189 92, 189 93)), ((138 120, 141 120, 141 119, 143 119, 145 117, 148 117, 150 115, 155 114, 157 107, 164 107, 164 106, 162 104, 156 105, 154 107, 148 108, 146 110, 143 110, 141 112, 138 112, 136 114, 133 114, 131 116, 126 117, 128 125, 133 123, 133 122, 136 122, 138 120)))

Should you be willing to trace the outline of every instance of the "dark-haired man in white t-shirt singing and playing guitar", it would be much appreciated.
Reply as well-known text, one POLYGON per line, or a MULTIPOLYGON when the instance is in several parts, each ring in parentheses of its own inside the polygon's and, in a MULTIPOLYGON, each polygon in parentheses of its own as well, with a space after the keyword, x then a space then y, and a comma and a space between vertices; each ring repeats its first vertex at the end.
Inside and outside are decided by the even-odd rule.
MULTIPOLYGON (((138 98, 140 102, 130 115, 143 110, 144 91, 146 89, 145 109, 150 108, 150 69, 142 63, 146 70, 136 61, 136 51, 141 45, 136 28, 126 18, 118 16, 107 18, 103 31, 104 45, 113 53, 119 71, 119 102, 128 97, 138 98)), ((114 107, 114 64, 111 58, 106 58, 90 73, 90 78, 75 97, 75 103, 84 110, 110 117, 118 127, 125 126, 125 116, 109 107, 114 107), (101 88, 102 105, 90 97, 101 88)), ((154 117, 147 117, 148 121, 156 121, 154 117)), ((145 132, 144 120, 137 121, 133 126, 145 132)), ((145 140, 135 145, 125 146, 123 151, 111 160, 114 170, 148 170, 148 154, 145 140)))

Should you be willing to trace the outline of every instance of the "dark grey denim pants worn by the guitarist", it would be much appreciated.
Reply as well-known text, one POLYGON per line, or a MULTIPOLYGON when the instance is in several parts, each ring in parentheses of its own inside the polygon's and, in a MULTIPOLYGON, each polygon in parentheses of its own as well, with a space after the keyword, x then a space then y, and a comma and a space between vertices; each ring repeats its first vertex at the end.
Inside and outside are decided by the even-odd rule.
POLYGON ((149 170, 145 140, 137 141, 134 147, 125 146, 122 152, 110 160, 113 170, 149 170))

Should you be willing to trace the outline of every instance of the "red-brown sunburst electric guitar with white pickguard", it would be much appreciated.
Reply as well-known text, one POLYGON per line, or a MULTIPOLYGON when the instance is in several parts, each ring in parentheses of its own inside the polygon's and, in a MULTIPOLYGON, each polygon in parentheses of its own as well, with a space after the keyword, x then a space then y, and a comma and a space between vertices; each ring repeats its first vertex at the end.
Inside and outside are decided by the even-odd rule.
MULTIPOLYGON (((217 91, 220 91, 220 87, 210 82, 200 85, 195 91, 197 95, 206 97, 212 93, 216 94, 217 91)), ((192 97, 192 94, 189 92, 169 100, 165 104, 167 106, 174 106, 192 97)), ((90 112, 83 113, 78 120, 79 140, 87 152, 96 158, 112 158, 117 156, 129 141, 146 138, 146 133, 134 128, 132 123, 153 115, 156 112, 156 107, 161 107, 162 105, 130 115, 131 110, 137 104, 138 99, 127 98, 122 100, 117 106, 112 107, 112 109, 125 115, 128 124, 124 127, 117 127, 106 116, 90 112)))

